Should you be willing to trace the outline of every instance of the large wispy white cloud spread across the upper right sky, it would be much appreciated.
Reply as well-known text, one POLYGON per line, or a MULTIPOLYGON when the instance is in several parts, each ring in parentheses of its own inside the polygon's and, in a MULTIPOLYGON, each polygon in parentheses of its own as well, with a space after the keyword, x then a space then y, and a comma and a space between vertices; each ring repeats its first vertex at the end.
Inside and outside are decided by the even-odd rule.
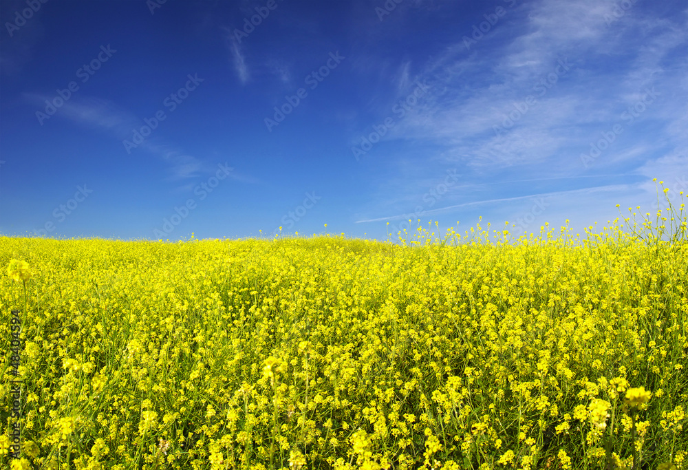
MULTIPOLYGON (((666 153, 661 147, 685 148, 688 143, 688 106, 685 99, 670 98, 685 97, 688 89, 686 18, 655 19, 647 10, 641 13, 632 8, 610 23, 616 3, 524 3, 510 10, 495 26, 494 34, 469 51, 460 41, 460 32, 455 45, 445 47, 424 65, 416 65, 420 78, 432 85, 429 94, 383 140, 405 140, 438 149, 441 158, 437 164, 460 166, 464 180, 480 181, 507 168, 515 179, 524 180, 561 173, 616 172, 637 177, 651 170, 662 172, 660 168, 670 162, 661 159, 666 153), (645 88, 652 86, 660 93, 652 107, 632 123, 623 120, 627 107, 638 103, 645 88), (533 96, 535 103, 525 107, 528 96, 533 96), (581 153, 617 123, 625 133, 593 169, 583 167, 581 153), (506 131, 497 132, 499 126, 506 131), (655 159, 656 164, 634 171, 655 159)), ((405 61, 398 65, 402 71, 407 66, 405 61)), ((403 83, 400 76, 403 73, 397 74, 394 85, 403 83)), ((380 103, 380 114, 388 109, 389 103, 380 103)), ((427 182, 413 175, 426 174, 427 166, 427 157, 390 161, 386 180, 398 181, 405 190, 380 190, 383 197, 369 204, 366 212, 398 206, 395 200, 402 200, 409 188, 422 194, 427 182), (409 165, 417 170, 406 171, 409 165), (400 173, 402 168, 405 176, 399 177, 395 171, 400 173)), ((389 184, 385 183, 385 188, 389 189, 389 184)), ((505 200, 455 204, 442 211, 488 201, 505 200)), ((391 217, 365 219, 374 220, 391 217)))

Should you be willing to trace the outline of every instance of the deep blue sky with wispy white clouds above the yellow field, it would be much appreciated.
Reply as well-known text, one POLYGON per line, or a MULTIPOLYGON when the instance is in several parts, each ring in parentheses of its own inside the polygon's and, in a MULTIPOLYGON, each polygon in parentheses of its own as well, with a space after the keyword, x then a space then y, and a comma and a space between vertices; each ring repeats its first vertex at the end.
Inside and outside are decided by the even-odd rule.
POLYGON ((682 0, 0 7, 3 235, 582 231, 688 192, 682 0))

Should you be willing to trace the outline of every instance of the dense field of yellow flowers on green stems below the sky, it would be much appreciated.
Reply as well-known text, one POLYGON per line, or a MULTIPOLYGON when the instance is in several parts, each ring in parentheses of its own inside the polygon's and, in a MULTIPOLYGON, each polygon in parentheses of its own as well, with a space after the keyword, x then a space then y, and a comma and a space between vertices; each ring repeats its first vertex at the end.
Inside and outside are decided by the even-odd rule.
POLYGON ((688 469, 669 209, 519 239, 0 237, 0 465, 688 469))

